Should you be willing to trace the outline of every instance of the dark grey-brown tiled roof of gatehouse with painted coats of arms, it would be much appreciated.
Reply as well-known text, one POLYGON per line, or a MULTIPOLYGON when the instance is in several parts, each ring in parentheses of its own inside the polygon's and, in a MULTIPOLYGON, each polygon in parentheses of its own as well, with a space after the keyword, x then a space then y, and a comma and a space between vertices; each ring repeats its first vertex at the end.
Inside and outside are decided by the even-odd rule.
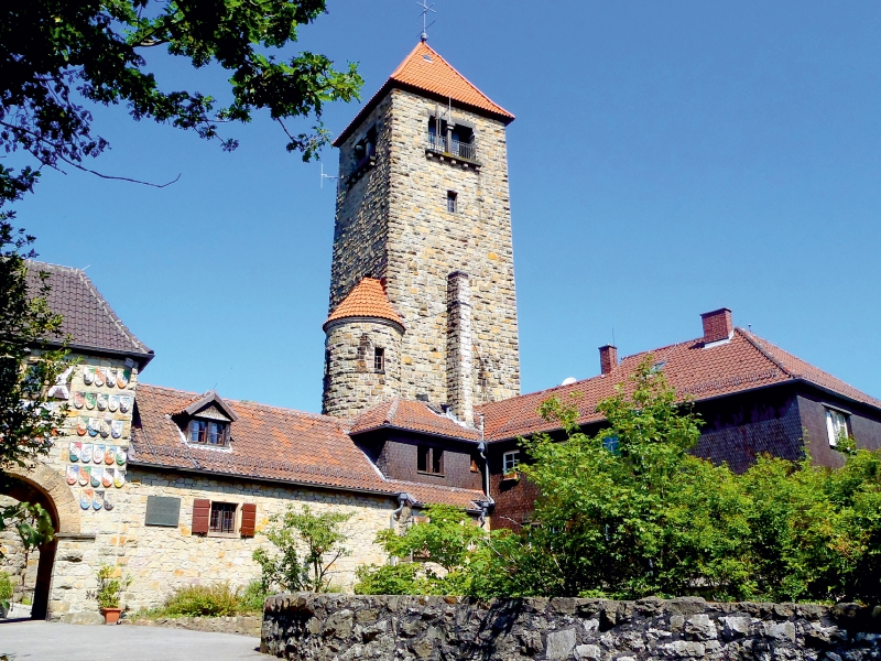
POLYGON ((61 336, 73 337, 72 348, 138 357, 142 368, 153 358, 153 351, 126 327, 83 271, 36 261, 26 263, 32 295, 42 284, 39 273, 48 273, 48 306, 64 316, 61 336))

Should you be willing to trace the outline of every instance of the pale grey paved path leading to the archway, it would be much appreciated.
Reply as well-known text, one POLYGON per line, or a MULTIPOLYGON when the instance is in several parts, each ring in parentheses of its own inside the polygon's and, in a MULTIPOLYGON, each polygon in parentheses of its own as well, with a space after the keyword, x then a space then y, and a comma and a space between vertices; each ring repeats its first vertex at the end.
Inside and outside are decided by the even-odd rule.
POLYGON ((0 621, 0 654, 14 661, 271 661, 259 648, 259 638, 231 633, 0 621))

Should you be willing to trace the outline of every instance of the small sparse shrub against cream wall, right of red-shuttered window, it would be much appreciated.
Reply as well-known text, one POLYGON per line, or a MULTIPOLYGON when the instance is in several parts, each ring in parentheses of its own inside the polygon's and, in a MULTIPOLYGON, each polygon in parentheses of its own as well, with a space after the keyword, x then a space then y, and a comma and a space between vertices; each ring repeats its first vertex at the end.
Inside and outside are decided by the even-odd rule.
POLYGON ((342 545, 346 533, 342 524, 351 514, 342 512, 315 513, 307 505, 298 512, 289 507, 270 520, 262 532, 275 546, 275 553, 258 549, 254 561, 261 567, 263 594, 282 592, 327 592, 334 564, 349 550, 342 545))

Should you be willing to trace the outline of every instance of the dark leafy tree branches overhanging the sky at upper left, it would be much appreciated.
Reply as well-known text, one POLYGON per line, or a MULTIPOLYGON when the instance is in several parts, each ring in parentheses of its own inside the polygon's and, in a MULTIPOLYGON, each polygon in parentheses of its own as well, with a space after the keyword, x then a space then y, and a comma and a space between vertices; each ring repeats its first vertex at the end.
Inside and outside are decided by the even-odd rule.
MULTIPOLYGON (((218 124, 249 122, 265 111, 284 131, 289 151, 308 160, 327 142, 324 104, 358 98, 355 64, 342 69, 325 55, 282 57, 302 25, 326 11, 325 0, 29 0, 0 9, 0 147, 23 149, 37 167, 0 166, 0 205, 32 191, 41 167, 89 170, 84 163, 108 143, 93 130, 88 104, 123 104, 135 120, 153 119, 200 138, 221 138, 218 124), (229 73, 214 96, 167 90, 145 59, 163 50, 200 68, 229 73), (285 121, 313 118, 296 132, 285 121)), ((97 172, 95 174, 98 174, 97 172)), ((101 175, 104 176, 104 175, 101 175)), ((124 178, 124 177, 110 177, 124 178)))

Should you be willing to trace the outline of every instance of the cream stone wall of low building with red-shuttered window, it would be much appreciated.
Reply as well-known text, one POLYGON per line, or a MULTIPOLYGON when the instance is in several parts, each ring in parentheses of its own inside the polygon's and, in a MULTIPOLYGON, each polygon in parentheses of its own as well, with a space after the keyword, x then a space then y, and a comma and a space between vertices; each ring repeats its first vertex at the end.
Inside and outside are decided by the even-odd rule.
POLYGON ((243 587, 260 576, 260 568, 252 560, 254 550, 272 548, 260 531, 270 524, 272 514, 283 512, 289 506, 308 505, 318 512, 333 508, 351 514, 344 527, 350 555, 337 562, 331 579, 338 588, 351 588, 355 570, 360 564, 385 560, 373 539, 379 530, 389 525, 389 513, 394 508, 389 498, 154 473, 134 467, 129 476, 129 488, 118 499, 113 516, 96 517, 95 540, 80 541, 75 551, 59 554, 63 559, 56 568, 51 604, 55 618, 88 621, 83 614, 97 617, 91 590, 96 587, 95 572, 100 564, 118 566, 120 573, 132 577, 122 600, 135 611, 160 606, 174 588, 185 585, 229 583, 243 587), (148 496, 181 498, 177 527, 145 525, 148 496), (253 538, 192 534, 196 498, 257 503, 258 534, 253 538))

